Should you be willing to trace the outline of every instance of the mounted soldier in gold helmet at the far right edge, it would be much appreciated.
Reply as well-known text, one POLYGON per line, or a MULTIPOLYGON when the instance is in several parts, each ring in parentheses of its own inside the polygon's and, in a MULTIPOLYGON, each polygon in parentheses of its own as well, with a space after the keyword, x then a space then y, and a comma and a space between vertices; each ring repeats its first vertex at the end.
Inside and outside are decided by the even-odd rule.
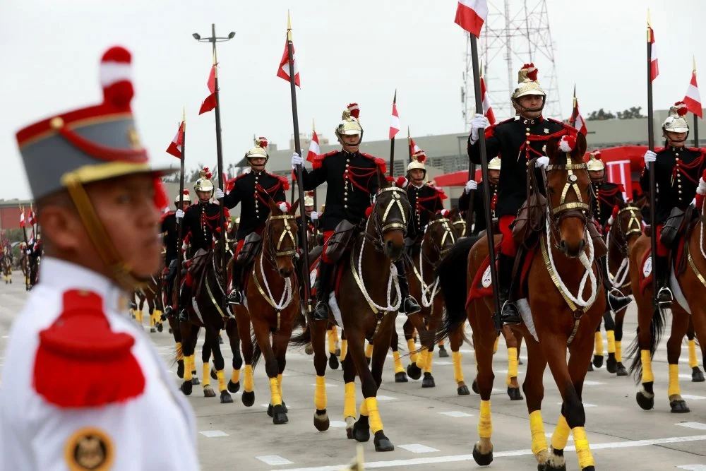
MULTIPOLYGON (((642 191, 650 191, 650 162, 654 162, 654 181, 656 183, 654 213, 656 220, 657 254, 655 257, 654 276, 657 277, 657 303, 668 308, 673 301, 669 289, 669 251, 678 229, 684 220, 684 213, 696 196, 699 179, 706 167, 704 151, 700 148, 686 147, 689 136, 689 124, 684 115, 687 113, 683 102, 676 102, 669 109, 669 116, 662 124, 664 149, 658 153, 645 152, 645 168, 642 169, 640 186, 642 191)), ((705 191, 706 189, 700 189, 705 191)))

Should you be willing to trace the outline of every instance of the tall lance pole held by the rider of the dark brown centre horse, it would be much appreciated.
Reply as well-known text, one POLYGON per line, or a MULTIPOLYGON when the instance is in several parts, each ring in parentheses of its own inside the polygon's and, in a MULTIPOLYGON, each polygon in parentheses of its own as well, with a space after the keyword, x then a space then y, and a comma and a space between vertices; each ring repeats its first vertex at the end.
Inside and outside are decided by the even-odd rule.
MULTIPOLYGON (((292 20, 287 11, 287 58, 289 59, 289 90, 292 94, 292 124, 294 125, 294 150, 301 155, 299 142, 299 117, 297 116, 297 85, 294 83, 294 43, 292 43, 292 20)), ((297 165, 297 181, 304 181, 304 169, 297 165)), ((304 285, 304 299, 306 300, 306 313, 311 313, 311 290, 309 289, 309 251, 306 247, 306 210, 304 208, 304 185, 297 185, 299 189, 299 244, 301 244, 301 284, 304 285)))

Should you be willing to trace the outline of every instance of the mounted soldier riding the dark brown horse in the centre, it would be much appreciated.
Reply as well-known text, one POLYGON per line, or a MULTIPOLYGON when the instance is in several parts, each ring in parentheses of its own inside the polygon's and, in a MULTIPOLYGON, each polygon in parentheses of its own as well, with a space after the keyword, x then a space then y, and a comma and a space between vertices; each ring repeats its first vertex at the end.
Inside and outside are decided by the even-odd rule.
MULTIPOLYGON (((359 107, 352 103, 343 112, 342 121, 336 127, 341 150, 314 157, 313 169, 304 174, 304 190, 315 190, 321 184, 328 184, 326 205, 321 215, 324 248, 318 266, 316 279, 316 309, 313 318, 328 320, 328 294, 330 278, 337 260, 328 256, 328 247, 337 246, 341 250, 332 250, 340 256, 343 249, 353 239, 357 226, 366 220, 366 210, 371 206, 373 196, 378 191, 377 173, 385 173, 385 161, 359 151, 363 139, 363 128, 358 121, 359 107)), ((297 153, 292 155, 292 166, 301 165, 304 159, 297 153)), ((400 311, 407 314, 418 312, 419 305, 409 296, 407 289, 404 261, 395 262, 403 302, 400 311)))

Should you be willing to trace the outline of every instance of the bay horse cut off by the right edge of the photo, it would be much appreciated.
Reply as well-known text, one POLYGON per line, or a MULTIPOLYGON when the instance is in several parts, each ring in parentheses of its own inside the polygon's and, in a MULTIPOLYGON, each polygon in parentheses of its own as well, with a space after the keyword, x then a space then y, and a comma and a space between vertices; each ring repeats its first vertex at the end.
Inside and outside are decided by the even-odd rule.
MULTIPOLYGON (((697 201, 702 200, 698 198, 697 201)), ((696 210, 696 208, 693 208, 696 210)), ((693 227, 683 234, 683 249, 678 251, 683 254, 681 261, 686 258, 683 270, 675 268, 680 259, 677 250, 671 251, 669 264, 671 276, 669 285, 674 293, 674 302, 671 304, 671 333, 666 344, 667 362, 669 362, 669 408, 674 413, 690 412, 686 400, 681 397, 679 388, 679 357, 681 356, 681 342, 688 333, 689 324, 693 322, 696 337, 700 342, 702 357, 706 354, 706 306, 703 297, 706 295, 706 251, 704 246, 704 216, 705 205, 700 204, 700 215, 693 227), (677 259, 677 263, 674 263, 677 259)), ((686 224, 686 222, 685 222, 686 224)), ((659 237, 659 235, 658 235, 659 237)), ((633 289, 635 303, 638 305, 638 335, 630 345, 630 354, 633 354, 633 363, 630 373, 635 374, 642 388, 636 395, 638 405, 644 410, 654 407, 654 374, 652 373, 652 356, 664 331, 666 312, 654 306, 652 283, 645 280, 645 275, 652 276, 650 264, 650 231, 645 228, 644 233, 630 246, 630 284, 633 289), (648 266, 649 265, 649 268, 648 266)))

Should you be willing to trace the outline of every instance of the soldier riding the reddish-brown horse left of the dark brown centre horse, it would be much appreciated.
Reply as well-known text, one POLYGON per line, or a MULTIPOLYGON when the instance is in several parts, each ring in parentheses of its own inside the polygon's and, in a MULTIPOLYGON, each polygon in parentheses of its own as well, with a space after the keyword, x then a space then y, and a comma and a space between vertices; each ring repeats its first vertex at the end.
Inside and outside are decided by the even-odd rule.
POLYGON ((223 197, 226 208, 240 204, 240 222, 236 232, 237 245, 233 263, 233 289, 228 294, 230 304, 243 302, 242 286, 246 268, 258 254, 262 233, 270 216, 270 198, 285 201, 285 190, 289 183, 285 177, 277 177, 265 170, 270 155, 267 138, 255 140, 255 146, 245 153, 250 172, 241 174, 232 181, 231 191, 223 196, 216 190, 216 198, 223 197))

